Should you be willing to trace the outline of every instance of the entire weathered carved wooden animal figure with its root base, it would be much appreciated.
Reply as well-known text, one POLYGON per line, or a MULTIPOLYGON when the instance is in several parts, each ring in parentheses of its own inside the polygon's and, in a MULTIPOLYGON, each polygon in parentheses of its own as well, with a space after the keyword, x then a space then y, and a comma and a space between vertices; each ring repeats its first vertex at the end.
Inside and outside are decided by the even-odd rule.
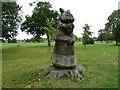
POLYGON ((55 32, 55 46, 52 53, 51 62, 53 66, 48 67, 45 73, 49 78, 60 78, 67 75, 71 78, 83 80, 80 72, 86 72, 82 65, 77 65, 74 56, 74 17, 69 10, 60 8, 60 20, 55 32))

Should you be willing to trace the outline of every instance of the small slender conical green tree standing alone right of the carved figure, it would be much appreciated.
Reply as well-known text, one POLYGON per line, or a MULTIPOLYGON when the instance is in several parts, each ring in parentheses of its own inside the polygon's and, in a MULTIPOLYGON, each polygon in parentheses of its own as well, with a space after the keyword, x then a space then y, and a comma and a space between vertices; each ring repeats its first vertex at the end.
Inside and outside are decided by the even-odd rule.
POLYGON ((85 26, 83 27, 84 32, 83 32, 83 44, 84 46, 86 46, 86 44, 89 44, 88 40, 89 40, 89 36, 92 36, 92 33, 90 30, 90 26, 88 24, 85 24, 85 26))

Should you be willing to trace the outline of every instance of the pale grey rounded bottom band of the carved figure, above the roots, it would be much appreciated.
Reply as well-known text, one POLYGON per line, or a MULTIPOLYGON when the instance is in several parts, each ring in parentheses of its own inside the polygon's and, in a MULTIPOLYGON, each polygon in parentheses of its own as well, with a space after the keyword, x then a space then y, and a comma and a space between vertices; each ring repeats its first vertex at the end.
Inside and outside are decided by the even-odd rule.
POLYGON ((56 68, 74 68, 77 65, 77 60, 74 55, 59 55, 52 53, 52 64, 56 68))

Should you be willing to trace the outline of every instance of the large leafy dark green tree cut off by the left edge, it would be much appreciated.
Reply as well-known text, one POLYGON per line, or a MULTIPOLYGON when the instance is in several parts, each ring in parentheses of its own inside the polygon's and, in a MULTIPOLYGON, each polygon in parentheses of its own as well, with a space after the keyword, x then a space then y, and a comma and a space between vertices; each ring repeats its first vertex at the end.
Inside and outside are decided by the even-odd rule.
POLYGON ((2 2, 2 37, 14 39, 21 22, 21 7, 16 2, 2 2))

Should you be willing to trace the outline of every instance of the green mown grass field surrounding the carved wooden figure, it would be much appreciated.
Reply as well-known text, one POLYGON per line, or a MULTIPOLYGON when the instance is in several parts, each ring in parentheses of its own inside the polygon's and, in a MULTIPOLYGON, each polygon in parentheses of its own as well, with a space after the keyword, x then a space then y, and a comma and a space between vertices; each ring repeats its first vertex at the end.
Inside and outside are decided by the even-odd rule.
POLYGON ((44 78, 54 43, 50 48, 47 43, 19 45, 2 45, 3 88, 118 88, 118 47, 114 42, 96 42, 86 48, 75 43, 77 62, 88 70, 83 82, 68 77, 44 78))

